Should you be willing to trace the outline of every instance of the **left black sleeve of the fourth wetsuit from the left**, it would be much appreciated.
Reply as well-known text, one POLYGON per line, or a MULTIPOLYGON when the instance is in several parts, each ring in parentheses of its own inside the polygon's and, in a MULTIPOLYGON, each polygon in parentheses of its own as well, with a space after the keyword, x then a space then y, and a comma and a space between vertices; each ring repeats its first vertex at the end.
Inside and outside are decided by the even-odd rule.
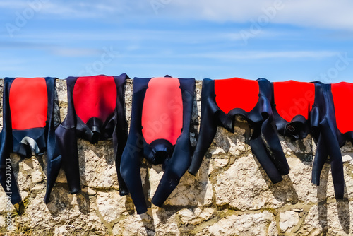
POLYGON ((214 81, 204 79, 201 91, 201 123, 195 153, 191 160, 189 173, 196 175, 201 167, 203 157, 208 151, 217 132, 217 113, 219 108, 215 104, 214 81))

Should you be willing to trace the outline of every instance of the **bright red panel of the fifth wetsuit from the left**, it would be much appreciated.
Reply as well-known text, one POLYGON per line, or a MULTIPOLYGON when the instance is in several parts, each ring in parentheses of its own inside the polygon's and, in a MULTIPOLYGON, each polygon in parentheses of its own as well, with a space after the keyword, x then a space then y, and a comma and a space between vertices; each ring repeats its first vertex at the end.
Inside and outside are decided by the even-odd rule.
POLYGON ((276 110, 280 117, 291 122, 297 115, 308 119, 315 102, 313 83, 285 81, 273 83, 276 110))

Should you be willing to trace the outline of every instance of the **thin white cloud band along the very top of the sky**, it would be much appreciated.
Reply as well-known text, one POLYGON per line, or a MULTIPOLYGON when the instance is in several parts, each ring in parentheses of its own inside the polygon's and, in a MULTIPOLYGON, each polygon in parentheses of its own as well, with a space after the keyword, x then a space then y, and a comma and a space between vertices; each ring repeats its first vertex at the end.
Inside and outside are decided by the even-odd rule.
POLYGON ((40 14, 45 17, 116 21, 133 16, 136 20, 151 17, 251 23, 267 16, 270 23, 353 30, 352 0, 3 0, 0 7, 20 12, 33 2, 41 3, 40 14), (159 3, 157 8, 153 2, 159 3))

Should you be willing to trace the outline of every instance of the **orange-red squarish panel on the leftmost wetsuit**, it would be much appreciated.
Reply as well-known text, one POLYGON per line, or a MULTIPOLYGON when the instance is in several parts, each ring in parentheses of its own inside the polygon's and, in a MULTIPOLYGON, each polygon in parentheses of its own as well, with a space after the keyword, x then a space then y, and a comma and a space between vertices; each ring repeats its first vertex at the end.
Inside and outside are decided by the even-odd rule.
POLYGON ((48 92, 44 78, 16 78, 11 85, 12 129, 42 128, 47 121, 48 92))

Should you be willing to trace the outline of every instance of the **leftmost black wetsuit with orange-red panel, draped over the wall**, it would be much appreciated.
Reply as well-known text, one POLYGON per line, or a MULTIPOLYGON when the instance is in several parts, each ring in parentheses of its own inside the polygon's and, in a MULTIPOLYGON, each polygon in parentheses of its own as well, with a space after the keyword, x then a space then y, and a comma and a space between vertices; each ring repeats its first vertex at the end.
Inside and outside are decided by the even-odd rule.
POLYGON ((47 151, 47 194, 59 174, 61 155, 55 128, 60 124, 55 78, 5 78, 3 130, 0 137, 0 182, 11 203, 21 201, 10 153, 30 158, 47 151))

